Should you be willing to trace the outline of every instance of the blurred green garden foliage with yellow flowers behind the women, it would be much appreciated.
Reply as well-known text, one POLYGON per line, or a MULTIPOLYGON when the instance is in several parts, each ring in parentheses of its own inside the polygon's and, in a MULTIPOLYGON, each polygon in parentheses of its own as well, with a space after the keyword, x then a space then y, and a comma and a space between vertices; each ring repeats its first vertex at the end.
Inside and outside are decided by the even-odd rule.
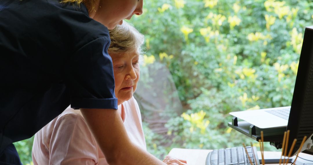
MULTIPOLYGON (((310 0, 144 0, 129 22, 145 35, 135 98, 148 151, 258 146, 228 113, 290 106, 312 19, 310 0)), ((32 143, 14 143, 23 164, 32 143)))

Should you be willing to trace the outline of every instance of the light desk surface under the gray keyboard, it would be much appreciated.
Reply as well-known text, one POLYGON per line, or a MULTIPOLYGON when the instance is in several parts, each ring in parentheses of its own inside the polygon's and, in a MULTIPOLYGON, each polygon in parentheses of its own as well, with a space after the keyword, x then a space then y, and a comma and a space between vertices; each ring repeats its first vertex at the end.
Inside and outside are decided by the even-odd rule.
MULTIPOLYGON (((184 149, 184 148, 173 148, 169 155, 176 157, 178 159, 186 160, 187 165, 205 165, 205 160, 207 158, 207 155, 212 150, 205 150, 205 149, 184 149)), ((266 162, 266 159, 274 159, 274 158, 280 158, 281 152, 272 152, 272 151, 264 151, 264 159, 266 162)), ((313 155, 300 153, 299 156, 301 158, 313 160, 313 155)), ((261 159, 261 152, 258 151, 258 157, 261 159)), ((294 157, 291 157, 290 159, 294 160, 294 157)), ((291 163, 289 163, 291 164, 291 163)), ((313 164, 313 162, 305 161, 303 159, 297 158, 296 165, 298 164, 313 164)), ((275 164, 272 164, 275 165, 275 164)))

